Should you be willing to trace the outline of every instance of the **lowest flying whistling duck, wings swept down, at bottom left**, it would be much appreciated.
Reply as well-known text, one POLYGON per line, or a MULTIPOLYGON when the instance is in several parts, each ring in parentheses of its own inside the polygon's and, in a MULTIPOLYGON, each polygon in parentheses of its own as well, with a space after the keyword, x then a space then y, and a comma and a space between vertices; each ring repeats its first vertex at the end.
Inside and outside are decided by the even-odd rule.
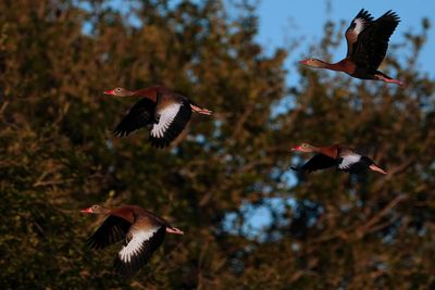
POLYGON ((107 209, 92 205, 82 213, 109 215, 102 225, 87 240, 92 249, 103 249, 124 239, 114 269, 124 276, 132 276, 142 267, 162 244, 166 232, 183 235, 166 220, 135 205, 107 209))

